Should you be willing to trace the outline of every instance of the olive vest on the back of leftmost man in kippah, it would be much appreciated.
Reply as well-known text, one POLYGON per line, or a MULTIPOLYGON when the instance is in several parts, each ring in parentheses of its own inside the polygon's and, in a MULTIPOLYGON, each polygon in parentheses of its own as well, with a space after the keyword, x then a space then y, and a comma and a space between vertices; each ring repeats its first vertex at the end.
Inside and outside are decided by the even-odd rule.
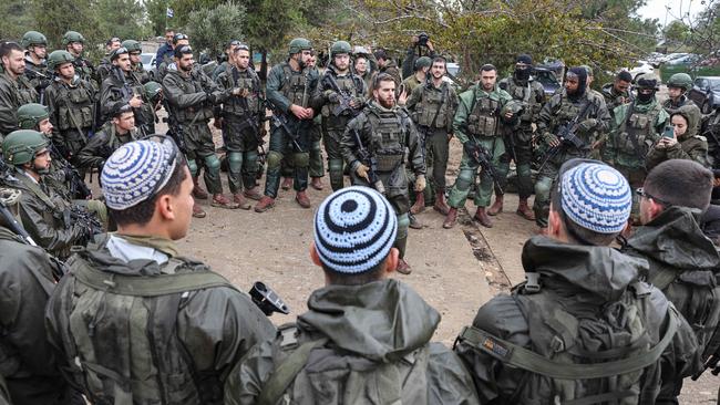
POLYGON ((179 309, 197 290, 234 287, 202 263, 171 258, 160 276, 123 276, 91 266, 83 250, 71 273, 61 333, 74 381, 95 404, 223 403, 216 374, 199 374, 178 339, 179 309))

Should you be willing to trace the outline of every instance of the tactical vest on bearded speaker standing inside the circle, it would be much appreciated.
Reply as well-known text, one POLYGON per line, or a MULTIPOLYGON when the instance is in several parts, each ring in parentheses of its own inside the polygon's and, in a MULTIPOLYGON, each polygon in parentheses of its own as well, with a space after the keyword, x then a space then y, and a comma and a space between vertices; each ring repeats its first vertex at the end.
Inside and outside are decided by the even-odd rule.
POLYGON ((378 173, 391 173, 402 165, 408 146, 405 116, 400 110, 368 108, 368 122, 372 128, 370 152, 378 160, 378 173))

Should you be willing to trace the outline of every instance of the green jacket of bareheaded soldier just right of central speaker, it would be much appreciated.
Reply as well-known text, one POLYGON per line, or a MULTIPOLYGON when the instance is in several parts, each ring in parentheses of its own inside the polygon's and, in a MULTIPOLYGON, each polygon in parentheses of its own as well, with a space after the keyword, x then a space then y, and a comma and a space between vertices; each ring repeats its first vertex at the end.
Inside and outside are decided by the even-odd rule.
POLYGON ((418 126, 443 128, 452 133, 453 117, 457 110, 457 94, 449 82, 443 81, 440 89, 432 82, 418 86, 405 104, 412 121, 418 126))

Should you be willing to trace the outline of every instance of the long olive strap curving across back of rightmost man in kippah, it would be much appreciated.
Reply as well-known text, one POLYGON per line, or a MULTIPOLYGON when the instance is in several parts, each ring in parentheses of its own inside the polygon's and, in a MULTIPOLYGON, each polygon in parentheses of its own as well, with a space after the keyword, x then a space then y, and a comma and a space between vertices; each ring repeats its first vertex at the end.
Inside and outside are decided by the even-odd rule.
POLYGON ((490 354, 505 364, 532 373, 560 380, 603 378, 642 370, 657 362, 678 330, 677 311, 670 307, 668 314, 668 328, 662 339, 655 346, 637 356, 607 363, 566 364, 554 362, 538 353, 496 338, 475 326, 463 328, 459 339, 465 341, 474 350, 490 354))

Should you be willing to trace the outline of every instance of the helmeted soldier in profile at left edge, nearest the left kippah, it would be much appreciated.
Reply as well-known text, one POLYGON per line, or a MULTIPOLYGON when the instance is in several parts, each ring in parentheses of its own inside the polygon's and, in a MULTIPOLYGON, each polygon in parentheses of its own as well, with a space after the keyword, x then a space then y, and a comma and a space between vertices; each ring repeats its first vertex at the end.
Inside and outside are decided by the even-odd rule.
POLYGON ((84 209, 74 207, 49 187, 45 181, 51 162, 48 146, 48 138, 37 131, 20 129, 8 135, 2 142, 2 154, 14 178, 3 181, 22 191, 20 220, 32 239, 50 255, 66 259, 71 247, 86 243, 101 229, 100 225, 94 228, 93 224, 78 218, 78 210, 84 209))

